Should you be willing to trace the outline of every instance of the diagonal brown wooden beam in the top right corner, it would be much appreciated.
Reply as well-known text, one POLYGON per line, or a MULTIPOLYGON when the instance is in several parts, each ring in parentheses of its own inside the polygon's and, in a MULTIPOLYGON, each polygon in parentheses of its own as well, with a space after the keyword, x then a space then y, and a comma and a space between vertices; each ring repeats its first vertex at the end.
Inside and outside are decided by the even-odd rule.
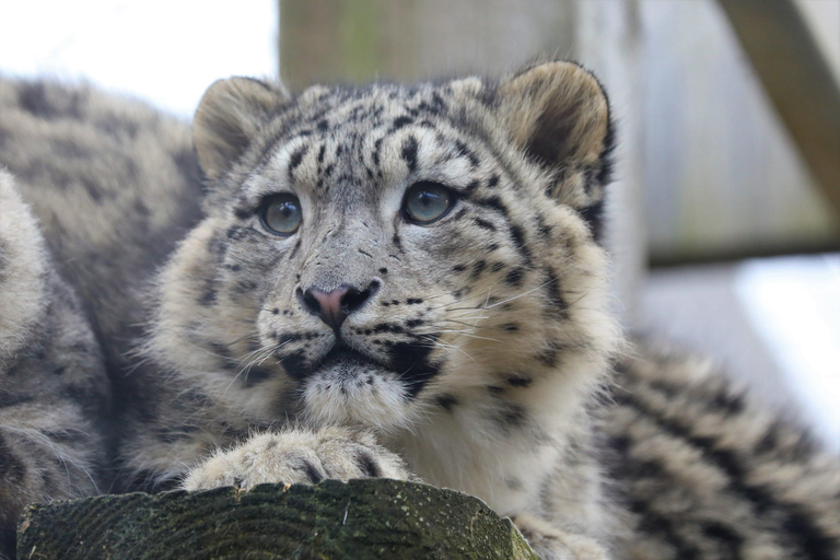
POLYGON ((840 213, 840 85, 794 0, 719 0, 791 138, 840 213))

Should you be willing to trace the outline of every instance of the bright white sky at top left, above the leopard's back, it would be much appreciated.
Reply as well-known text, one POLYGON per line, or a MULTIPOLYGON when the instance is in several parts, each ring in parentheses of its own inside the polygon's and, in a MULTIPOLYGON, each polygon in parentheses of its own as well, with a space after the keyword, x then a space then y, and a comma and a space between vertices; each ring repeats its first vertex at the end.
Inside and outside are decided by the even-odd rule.
POLYGON ((182 117, 230 75, 278 73, 278 2, 4 2, 0 72, 84 78, 182 117))

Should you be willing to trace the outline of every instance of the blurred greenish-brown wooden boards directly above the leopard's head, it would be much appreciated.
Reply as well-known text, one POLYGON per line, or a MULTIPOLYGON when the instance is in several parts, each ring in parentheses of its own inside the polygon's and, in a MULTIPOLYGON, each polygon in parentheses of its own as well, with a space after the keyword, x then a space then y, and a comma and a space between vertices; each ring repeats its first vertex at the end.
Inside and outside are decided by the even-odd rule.
POLYGON ((576 2, 281 0, 280 75, 314 83, 500 74, 537 55, 571 58, 576 2))

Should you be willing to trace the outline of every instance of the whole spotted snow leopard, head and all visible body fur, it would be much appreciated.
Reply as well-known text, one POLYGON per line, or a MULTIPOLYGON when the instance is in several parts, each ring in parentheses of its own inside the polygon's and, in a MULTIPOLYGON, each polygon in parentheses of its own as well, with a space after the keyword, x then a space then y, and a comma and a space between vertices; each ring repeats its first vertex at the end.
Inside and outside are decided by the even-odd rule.
POLYGON ((395 478, 544 559, 840 556, 840 468, 610 311, 615 116, 551 60, 212 84, 189 124, 0 80, 0 530, 102 492, 395 478))

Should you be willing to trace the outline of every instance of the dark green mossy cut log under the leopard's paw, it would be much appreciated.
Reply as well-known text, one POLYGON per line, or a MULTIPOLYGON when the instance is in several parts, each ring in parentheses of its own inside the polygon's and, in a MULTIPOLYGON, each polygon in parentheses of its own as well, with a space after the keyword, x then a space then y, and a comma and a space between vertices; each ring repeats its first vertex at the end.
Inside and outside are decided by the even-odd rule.
POLYGON ((537 559, 508 518, 453 490, 369 479, 31 505, 19 559, 537 559))

